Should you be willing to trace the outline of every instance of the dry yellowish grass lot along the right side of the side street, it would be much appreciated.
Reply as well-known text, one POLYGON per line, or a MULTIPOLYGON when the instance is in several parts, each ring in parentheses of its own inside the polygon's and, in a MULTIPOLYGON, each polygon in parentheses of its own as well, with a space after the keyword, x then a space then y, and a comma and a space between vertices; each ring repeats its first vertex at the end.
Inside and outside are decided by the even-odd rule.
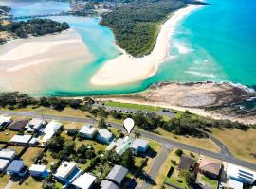
MULTIPOLYGON (((175 154, 175 151, 177 150, 177 148, 174 148, 169 156, 167 157, 165 163, 162 164, 159 172, 158 172, 158 176, 155 180, 156 182, 156 186, 153 187, 153 188, 159 188, 162 184, 163 184, 163 181, 164 180, 167 180, 169 182, 172 182, 182 188, 186 188, 188 187, 187 186, 187 183, 185 181, 185 179, 183 177, 180 177, 179 176, 179 171, 177 170, 177 166, 178 166, 178 163, 179 163, 179 160, 180 160, 180 157, 178 157, 176 154, 175 154), (174 160, 176 161, 176 164, 172 163, 171 160, 174 160), (172 174, 172 176, 170 178, 167 177, 167 174, 170 170, 171 167, 174 167, 174 172, 172 174), (181 181, 179 181, 181 180, 181 181)), ((187 150, 183 150, 184 154, 190 156, 191 152, 190 151, 187 151, 187 150)), ((195 159, 198 160, 199 158, 199 154, 195 154, 193 153, 193 155, 195 156, 195 159)))

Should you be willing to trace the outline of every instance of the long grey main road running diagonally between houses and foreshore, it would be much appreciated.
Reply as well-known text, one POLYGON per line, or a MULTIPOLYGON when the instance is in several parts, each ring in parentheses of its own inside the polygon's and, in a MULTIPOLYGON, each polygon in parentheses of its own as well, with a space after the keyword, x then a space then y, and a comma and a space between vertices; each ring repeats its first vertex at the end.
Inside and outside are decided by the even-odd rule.
MULTIPOLYGON (((23 115, 23 116, 33 117, 33 118, 42 117, 42 114, 36 113, 36 112, 0 111, 0 114, 23 115)), ((56 119, 56 120, 60 120, 60 121, 82 122, 82 123, 91 123, 91 124, 93 124, 93 122, 94 122, 94 120, 91 119, 91 118, 76 118, 76 117, 66 117, 66 116, 56 116, 56 115, 44 115, 44 119, 56 119)), ((123 127, 120 126, 119 124, 111 123, 111 125, 114 128, 123 130, 123 127)), ((256 170, 256 164, 247 163, 247 162, 244 162, 242 160, 239 160, 239 159, 233 157, 229 153, 229 150, 226 151, 226 149, 228 149, 228 148, 226 146, 224 146, 223 144, 222 144, 222 147, 221 147, 221 149, 222 149, 221 152, 220 153, 215 153, 215 152, 211 152, 211 151, 201 149, 201 148, 198 148, 198 147, 195 147, 195 146, 190 146, 190 145, 187 145, 187 144, 179 143, 179 142, 173 141, 172 139, 167 139, 167 138, 161 137, 159 135, 156 135, 152 132, 147 132, 147 131, 138 130, 138 129, 134 129, 133 131, 137 132, 137 133, 140 133, 142 137, 155 140, 155 141, 163 144, 163 146, 174 146, 174 147, 177 147, 177 148, 192 151, 194 153, 199 153, 199 154, 209 156, 209 157, 212 157, 212 158, 215 158, 215 159, 220 159, 222 161, 226 161, 226 162, 229 162, 229 163, 235 163, 235 164, 238 164, 238 165, 245 166, 247 168, 256 170)))

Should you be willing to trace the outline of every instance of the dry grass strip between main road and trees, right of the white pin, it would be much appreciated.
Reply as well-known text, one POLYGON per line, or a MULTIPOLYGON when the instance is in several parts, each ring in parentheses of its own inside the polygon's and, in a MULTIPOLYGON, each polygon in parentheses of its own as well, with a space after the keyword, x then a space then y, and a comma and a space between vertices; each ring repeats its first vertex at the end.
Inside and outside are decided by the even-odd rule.
POLYGON ((201 139, 201 138, 195 138, 190 136, 188 137, 177 136, 161 128, 158 128, 157 132, 159 135, 165 138, 169 138, 180 143, 184 143, 190 146, 196 146, 196 147, 207 149, 213 152, 220 152, 220 148, 216 146, 215 143, 213 143, 210 139, 205 139, 205 138, 201 139))

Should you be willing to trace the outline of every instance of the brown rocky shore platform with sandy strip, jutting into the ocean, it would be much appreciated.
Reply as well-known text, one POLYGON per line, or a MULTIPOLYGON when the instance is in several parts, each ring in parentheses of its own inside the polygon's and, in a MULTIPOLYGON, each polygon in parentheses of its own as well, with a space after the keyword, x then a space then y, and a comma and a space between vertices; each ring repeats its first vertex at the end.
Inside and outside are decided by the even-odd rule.
POLYGON ((176 111, 189 111, 194 114, 238 121, 245 124, 256 123, 256 112, 239 113, 232 106, 246 99, 256 97, 256 92, 244 85, 230 82, 160 82, 147 90, 135 94, 113 94, 94 96, 97 100, 134 103, 176 111))

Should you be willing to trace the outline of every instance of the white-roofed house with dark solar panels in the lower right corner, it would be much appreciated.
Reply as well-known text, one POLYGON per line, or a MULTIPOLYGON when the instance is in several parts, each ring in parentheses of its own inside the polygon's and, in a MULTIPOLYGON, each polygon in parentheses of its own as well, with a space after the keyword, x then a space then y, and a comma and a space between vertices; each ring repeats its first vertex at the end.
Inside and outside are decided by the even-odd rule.
POLYGON ((227 179, 236 180, 246 184, 253 184, 256 180, 256 172, 242 166, 228 163, 227 179))

